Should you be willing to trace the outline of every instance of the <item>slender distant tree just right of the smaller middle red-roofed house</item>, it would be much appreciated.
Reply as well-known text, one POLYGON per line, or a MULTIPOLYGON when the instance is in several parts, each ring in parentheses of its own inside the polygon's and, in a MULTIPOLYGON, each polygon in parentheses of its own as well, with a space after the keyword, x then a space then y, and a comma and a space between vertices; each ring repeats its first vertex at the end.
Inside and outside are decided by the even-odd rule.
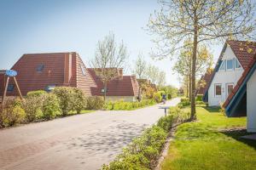
MULTIPOLYGON (((135 61, 135 66, 133 69, 133 74, 138 79, 143 79, 146 77, 147 72, 147 62, 143 59, 143 54, 138 54, 137 60, 135 61)), ((142 99, 142 83, 139 83, 139 89, 138 89, 138 100, 141 101, 142 99)))

